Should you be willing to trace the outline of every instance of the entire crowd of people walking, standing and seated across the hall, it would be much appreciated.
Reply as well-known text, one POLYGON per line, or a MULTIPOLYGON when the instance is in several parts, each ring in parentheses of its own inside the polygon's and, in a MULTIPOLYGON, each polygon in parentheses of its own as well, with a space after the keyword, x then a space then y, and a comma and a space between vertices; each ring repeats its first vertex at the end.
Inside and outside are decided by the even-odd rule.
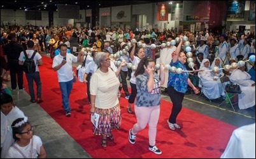
MULTIPOLYGON (((3 58, 8 63, 8 69, 5 71, 1 67, 1 78, 4 79, 10 70, 11 91, 16 91, 17 85, 20 91, 25 89, 23 87, 24 66, 22 66, 25 61, 24 53, 31 57, 36 51, 33 58, 36 70, 33 73, 25 73, 32 103, 43 102, 38 66, 43 63, 41 52, 46 51, 50 54, 53 59, 52 68, 57 72, 62 106, 66 117, 71 117, 72 110, 72 106, 69 105, 69 95, 76 78, 75 72, 73 72, 73 62, 84 62, 83 83, 87 85, 90 113, 99 115, 98 126, 92 126, 92 133, 102 136, 101 146, 103 147, 107 146, 107 137, 111 140, 114 139, 112 130, 120 128, 122 115, 119 100, 122 89, 124 89, 125 99, 129 103, 127 112, 134 111, 137 118, 136 124, 128 132, 129 142, 136 143, 136 134, 145 129, 148 124, 148 149, 157 155, 162 153, 155 146, 160 114, 160 87, 164 88, 173 103, 171 114, 167 120, 167 125, 171 130, 181 129, 176 118, 181 111, 183 98, 188 88, 196 94, 201 89, 208 99, 225 98, 224 88, 220 82, 220 78, 224 75, 229 76, 232 82, 241 86, 243 93, 239 95, 239 108, 255 106, 255 63, 247 62, 245 66, 231 70, 231 72, 220 69, 239 60, 246 61, 250 55, 255 54, 255 36, 253 34, 240 37, 236 33, 214 36, 206 30, 206 32, 199 32, 198 35, 194 35, 192 32, 176 35, 171 30, 159 32, 155 29, 145 30, 141 34, 139 32, 133 34, 129 28, 52 27, 46 29, 43 27, 33 30, 32 27, 20 27, 11 29, 10 32, 2 31, 1 49, 3 49, 3 58), (190 42, 194 68, 190 68, 186 64, 188 57, 186 48, 183 47, 186 42, 183 37, 187 37, 190 42), (136 39, 136 42, 132 42, 132 39, 136 39), (142 45, 140 46, 139 43, 142 45), (152 44, 155 44, 156 47, 152 47, 152 44), (159 47, 162 44, 166 44, 166 47, 159 47), (50 47, 52 48, 50 49, 50 47), (89 48, 92 56, 85 55, 82 48, 89 48), (117 54, 120 50, 122 50, 121 55, 117 54), (113 60, 119 61, 119 65, 115 64, 113 60), (231 60, 233 61, 231 62, 231 60), (129 63, 132 67, 128 67, 129 63), (157 65, 159 65, 159 69, 155 69, 157 65), (174 73, 166 69, 166 65, 181 68, 183 72, 174 73), (213 72, 215 67, 219 69, 218 72, 213 72), (196 71, 187 72, 187 70, 196 71), (131 92, 127 88, 127 80, 130 82, 131 92), (33 82, 37 87, 36 96, 33 82), (133 104, 134 106, 132 106, 133 104)), ((41 139, 38 136, 32 136, 32 127, 22 112, 17 110, 19 113, 11 116, 11 120, 8 120, 8 113, 11 109, 17 108, 12 105, 12 99, 9 99, 11 91, 6 91, 6 87, 1 86, 1 151, 4 149, 2 125, 6 125, 13 128, 13 138, 16 140, 14 144, 10 140, 13 146, 11 148, 9 146, 8 151, 4 150, 5 153, 8 152, 8 156, 46 157, 41 139), (7 95, 8 93, 9 95, 7 95), (6 107, 9 109, 7 113, 4 112, 6 107), (2 116, 3 122, 5 121, 6 124, 2 124, 2 116), (25 135, 30 137, 29 140, 23 138, 25 135), (19 146, 28 145, 31 142, 35 143, 34 146, 31 146, 33 150, 30 154, 27 152, 17 153, 19 146)), ((7 133, 7 127, 3 127, 5 133, 3 136, 7 133)), ((4 138, 7 140, 6 137, 4 138)))

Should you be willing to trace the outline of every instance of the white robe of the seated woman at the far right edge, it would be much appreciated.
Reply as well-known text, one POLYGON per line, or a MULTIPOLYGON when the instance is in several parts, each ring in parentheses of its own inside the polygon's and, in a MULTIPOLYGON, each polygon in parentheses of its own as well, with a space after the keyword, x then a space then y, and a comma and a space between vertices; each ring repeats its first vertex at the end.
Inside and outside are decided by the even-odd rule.
POLYGON ((234 70, 229 77, 231 82, 239 84, 242 91, 238 95, 239 109, 246 109, 255 105, 255 86, 252 86, 255 82, 250 80, 250 78, 249 73, 239 69, 234 70))

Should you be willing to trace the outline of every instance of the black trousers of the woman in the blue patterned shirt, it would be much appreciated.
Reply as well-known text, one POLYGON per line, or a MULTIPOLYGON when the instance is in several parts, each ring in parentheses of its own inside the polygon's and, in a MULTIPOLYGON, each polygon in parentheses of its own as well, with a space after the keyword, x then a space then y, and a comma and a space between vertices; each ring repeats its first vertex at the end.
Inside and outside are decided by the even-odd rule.
POLYGON ((171 98, 171 101, 173 102, 173 108, 171 109, 171 115, 168 120, 171 124, 175 124, 176 118, 178 117, 178 114, 182 108, 182 101, 185 93, 176 91, 172 86, 167 87, 167 92, 171 98))

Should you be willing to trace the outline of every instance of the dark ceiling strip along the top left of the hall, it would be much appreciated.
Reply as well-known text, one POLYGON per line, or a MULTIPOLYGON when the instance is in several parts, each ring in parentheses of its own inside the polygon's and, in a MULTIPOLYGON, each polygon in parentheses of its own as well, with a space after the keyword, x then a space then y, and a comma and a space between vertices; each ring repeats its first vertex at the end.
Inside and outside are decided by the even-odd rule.
POLYGON ((125 6, 132 4, 161 3, 166 1, 13 1, 1 0, 1 9, 10 10, 57 10, 57 4, 71 4, 80 6, 80 10, 92 8, 106 8, 111 6, 125 6))

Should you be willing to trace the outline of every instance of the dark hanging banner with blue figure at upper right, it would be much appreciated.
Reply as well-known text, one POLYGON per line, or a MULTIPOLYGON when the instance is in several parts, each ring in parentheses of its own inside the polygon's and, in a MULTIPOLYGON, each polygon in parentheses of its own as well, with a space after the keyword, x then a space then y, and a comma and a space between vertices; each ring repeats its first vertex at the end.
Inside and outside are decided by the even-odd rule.
POLYGON ((229 1, 227 21, 241 21, 245 18, 245 1, 229 1))

